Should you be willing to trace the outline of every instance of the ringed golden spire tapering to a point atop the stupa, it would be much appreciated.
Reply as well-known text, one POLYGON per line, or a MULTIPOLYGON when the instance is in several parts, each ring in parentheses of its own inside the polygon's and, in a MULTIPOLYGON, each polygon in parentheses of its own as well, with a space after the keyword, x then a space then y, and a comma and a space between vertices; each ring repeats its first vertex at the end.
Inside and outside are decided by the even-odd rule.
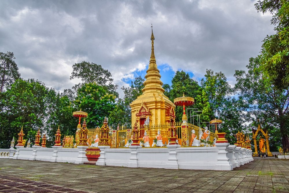
POLYGON ((164 89, 162 88, 163 83, 160 80, 160 71, 155 61, 155 51, 153 47, 154 40, 153 25, 151 25, 151 58, 149 60, 149 69, 147 70, 147 74, 144 76, 146 81, 144 81, 142 93, 164 93, 164 89))

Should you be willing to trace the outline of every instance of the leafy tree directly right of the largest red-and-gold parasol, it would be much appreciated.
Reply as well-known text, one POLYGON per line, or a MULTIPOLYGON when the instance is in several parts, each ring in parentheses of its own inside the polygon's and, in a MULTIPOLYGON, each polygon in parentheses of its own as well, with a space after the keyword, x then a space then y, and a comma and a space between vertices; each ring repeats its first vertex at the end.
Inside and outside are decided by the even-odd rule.
POLYGON ((201 95, 197 98, 203 101, 203 115, 207 122, 215 118, 221 119, 223 124, 219 128, 227 133, 227 140, 233 144, 236 139, 233 134, 244 129, 245 120, 242 119, 242 111, 239 101, 232 98, 233 90, 227 78, 222 72, 206 70, 205 78, 201 80, 201 95))

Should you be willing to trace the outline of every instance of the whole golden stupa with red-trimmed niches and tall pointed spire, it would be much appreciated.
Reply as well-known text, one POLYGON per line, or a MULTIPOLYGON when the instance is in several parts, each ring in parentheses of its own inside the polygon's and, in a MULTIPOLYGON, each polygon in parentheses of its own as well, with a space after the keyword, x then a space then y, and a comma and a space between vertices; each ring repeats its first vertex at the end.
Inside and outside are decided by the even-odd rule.
POLYGON ((139 126, 143 125, 147 117, 149 117, 150 125, 167 124, 175 122, 175 105, 164 95, 162 88, 161 75, 155 61, 155 53, 153 47, 153 30, 151 30, 151 58, 149 68, 145 75, 144 88, 142 95, 134 100, 131 106, 131 125, 135 122, 139 126))

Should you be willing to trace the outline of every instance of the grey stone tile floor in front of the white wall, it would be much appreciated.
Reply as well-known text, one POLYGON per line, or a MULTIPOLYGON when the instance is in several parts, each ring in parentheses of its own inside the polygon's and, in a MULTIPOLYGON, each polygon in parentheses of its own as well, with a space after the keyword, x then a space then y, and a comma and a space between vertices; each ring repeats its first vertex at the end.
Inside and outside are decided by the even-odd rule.
POLYGON ((232 171, 169 170, 0 159, 0 192, 289 192, 289 161, 232 171))

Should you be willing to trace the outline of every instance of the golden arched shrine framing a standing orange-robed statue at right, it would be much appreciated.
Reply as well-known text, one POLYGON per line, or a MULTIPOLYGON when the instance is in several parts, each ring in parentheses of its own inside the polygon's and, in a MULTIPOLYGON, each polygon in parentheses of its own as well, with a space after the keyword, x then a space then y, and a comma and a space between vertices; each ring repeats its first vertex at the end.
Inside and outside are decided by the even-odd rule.
POLYGON ((257 157, 258 156, 258 150, 260 150, 260 152, 267 152, 267 155, 272 157, 273 155, 270 152, 270 148, 269 148, 268 131, 266 131, 266 133, 265 133, 264 130, 260 127, 260 125, 258 125, 257 130, 252 129, 252 132, 253 132, 253 141, 254 141, 254 147, 255 147, 255 152, 253 153, 253 156, 257 157), (259 132, 261 132, 264 135, 265 139, 263 139, 262 135, 260 135, 259 144, 258 144, 258 148, 257 148, 256 137, 257 137, 259 132), (266 145, 264 142, 266 142, 266 145))

